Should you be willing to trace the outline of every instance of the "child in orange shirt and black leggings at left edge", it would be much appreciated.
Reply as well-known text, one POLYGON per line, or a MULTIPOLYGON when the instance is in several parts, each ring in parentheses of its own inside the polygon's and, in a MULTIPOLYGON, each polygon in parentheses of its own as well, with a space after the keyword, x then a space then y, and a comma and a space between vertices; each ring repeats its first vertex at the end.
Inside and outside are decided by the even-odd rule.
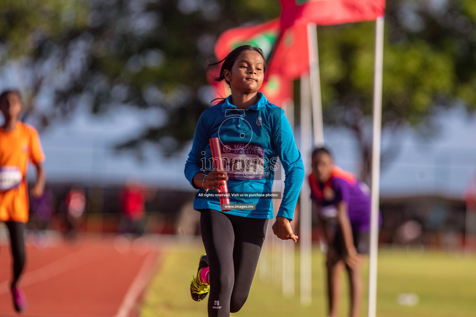
POLYGON ((5 222, 10 232, 13 255, 11 294, 18 312, 26 308, 18 281, 25 264, 24 231, 29 210, 26 174, 29 160, 37 172, 31 195, 41 196, 45 187, 40 138, 35 128, 19 121, 22 108, 18 91, 7 90, 0 95, 0 111, 5 118, 0 127, 0 221, 5 222))

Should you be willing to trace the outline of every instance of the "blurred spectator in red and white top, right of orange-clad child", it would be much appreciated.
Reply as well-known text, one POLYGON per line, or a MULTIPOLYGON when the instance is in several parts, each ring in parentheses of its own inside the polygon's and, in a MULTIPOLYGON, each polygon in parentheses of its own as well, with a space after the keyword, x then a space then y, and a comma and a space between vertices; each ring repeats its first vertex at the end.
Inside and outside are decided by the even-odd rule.
POLYGON ((86 195, 80 187, 73 186, 66 195, 66 238, 76 239, 86 208, 86 195))

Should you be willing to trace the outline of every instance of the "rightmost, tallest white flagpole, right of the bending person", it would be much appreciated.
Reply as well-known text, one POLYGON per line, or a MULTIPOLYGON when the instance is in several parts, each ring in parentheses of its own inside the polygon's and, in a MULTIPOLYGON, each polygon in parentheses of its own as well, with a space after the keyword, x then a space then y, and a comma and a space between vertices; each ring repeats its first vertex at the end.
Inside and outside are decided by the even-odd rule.
POLYGON ((382 80, 384 53, 384 17, 375 23, 375 65, 372 144, 372 209, 370 217, 370 260, 368 274, 368 317, 377 311, 378 205, 380 189, 380 137, 382 130, 382 80))

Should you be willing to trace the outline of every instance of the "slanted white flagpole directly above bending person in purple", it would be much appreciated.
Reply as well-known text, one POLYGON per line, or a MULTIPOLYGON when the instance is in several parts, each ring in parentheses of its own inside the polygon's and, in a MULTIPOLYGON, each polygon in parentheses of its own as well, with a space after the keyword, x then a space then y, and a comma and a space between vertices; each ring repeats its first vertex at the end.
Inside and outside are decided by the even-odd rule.
POLYGON ((314 146, 324 145, 324 125, 322 121, 321 80, 319 74, 319 50, 317 48, 317 26, 307 24, 307 47, 309 49, 309 73, 311 76, 312 121, 314 146))

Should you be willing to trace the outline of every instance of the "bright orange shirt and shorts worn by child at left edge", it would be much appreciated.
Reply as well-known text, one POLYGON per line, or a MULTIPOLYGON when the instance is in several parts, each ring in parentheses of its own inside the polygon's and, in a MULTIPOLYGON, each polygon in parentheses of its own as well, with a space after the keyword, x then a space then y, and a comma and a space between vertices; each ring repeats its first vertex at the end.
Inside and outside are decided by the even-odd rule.
POLYGON ((0 127, 0 173, 14 171, 20 175, 17 186, 0 190, 0 221, 28 221, 28 160, 39 163, 44 159, 38 132, 31 125, 19 122, 8 132, 0 127))

